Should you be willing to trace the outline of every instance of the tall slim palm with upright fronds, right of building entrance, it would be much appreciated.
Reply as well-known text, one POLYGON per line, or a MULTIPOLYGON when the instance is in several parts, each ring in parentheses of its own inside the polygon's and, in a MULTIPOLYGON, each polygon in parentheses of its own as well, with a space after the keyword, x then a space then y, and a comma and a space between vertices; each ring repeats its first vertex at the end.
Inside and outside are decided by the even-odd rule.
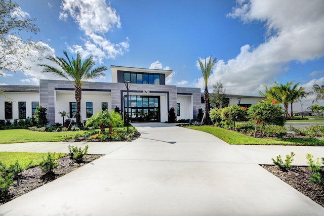
POLYGON ((211 71, 216 63, 216 58, 212 60, 212 56, 209 58, 208 63, 205 59, 205 64, 198 59, 201 73, 203 73, 205 81, 205 91, 204 91, 204 100, 205 100, 205 124, 209 123, 209 93, 208 93, 208 78, 211 75, 211 71))

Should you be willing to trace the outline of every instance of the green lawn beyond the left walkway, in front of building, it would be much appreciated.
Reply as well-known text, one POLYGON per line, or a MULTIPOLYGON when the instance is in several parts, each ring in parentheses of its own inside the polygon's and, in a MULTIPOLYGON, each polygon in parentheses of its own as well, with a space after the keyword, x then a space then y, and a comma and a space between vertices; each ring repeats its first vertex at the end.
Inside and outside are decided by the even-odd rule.
POLYGON ((28 129, 7 129, 0 130, 0 143, 26 143, 26 142, 44 142, 44 141, 63 141, 63 135, 67 135, 67 138, 72 138, 79 132, 37 132, 29 131, 28 129))

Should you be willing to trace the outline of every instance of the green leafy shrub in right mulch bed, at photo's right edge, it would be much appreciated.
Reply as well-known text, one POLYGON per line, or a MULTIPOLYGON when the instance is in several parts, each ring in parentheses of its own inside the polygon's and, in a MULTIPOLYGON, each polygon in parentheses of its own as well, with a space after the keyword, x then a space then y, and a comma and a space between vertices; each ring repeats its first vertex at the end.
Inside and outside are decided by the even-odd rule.
POLYGON ((319 162, 317 158, 316 162, 313 160, 313 155, 307 154, 307 163, 309 164, 309 169, 312 172, 309 181, 320 186, 324 186, 324 167, 321 164, 324 164, 324 157, 322 157, 322 162, 319 162))

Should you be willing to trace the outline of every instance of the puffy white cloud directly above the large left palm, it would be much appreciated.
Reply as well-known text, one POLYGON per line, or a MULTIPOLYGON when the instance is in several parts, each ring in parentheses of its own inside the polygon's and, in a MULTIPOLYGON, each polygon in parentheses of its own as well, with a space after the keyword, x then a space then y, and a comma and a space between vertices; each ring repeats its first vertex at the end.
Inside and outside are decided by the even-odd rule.
POLYGON ((69 45, 72 53, 83 52, 83 57, 93 55, 96 60, 115 59, 118 55, 124 55, 129 49, 129 38, 114 44, 104 34, 112 31, 116 26, 121 27, 120 17, 116 10, 107 6, 101 0, 64 0, 61 5, 63 10, 60 19, 67 20, 70 15, 84 31, 83 45, 69 45))

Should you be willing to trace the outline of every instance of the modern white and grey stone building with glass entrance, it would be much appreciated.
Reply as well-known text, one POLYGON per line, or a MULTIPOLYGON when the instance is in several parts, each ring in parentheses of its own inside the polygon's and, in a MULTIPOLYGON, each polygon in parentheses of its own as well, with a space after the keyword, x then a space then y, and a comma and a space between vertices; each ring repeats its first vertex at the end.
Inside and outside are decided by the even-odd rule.
MULTIPOLYGON (((168 121, 171 107, 177 119, 194 119, 204 107, 204 95, 199 88, 166 85, 172 70, 110 66, 112 82, 85 82, 82 87, 81 117, 86 120, 99 110, 118 107, 129 113, 132 122, 168 121), (129 97, 125 81, 131 81, 129 97), (203 97, 203 99, 201 99, 203 97)), ((39 85, 0 85, 0 119, 13 121, 32 117, 38 105, 47 107, 50 124, 62 123, 59 112, 68 113, 75 120, 74 87, 67 80, 39 80, 39 85)), ((226 95, 229 104, 252 105, 261 97, 226 95), (240 98, 240 102, 237 99, 240 98), (238 102, 238 103, 237 103, 238 102)), ((126 115, 127 116, 127 115, 126 115)))

